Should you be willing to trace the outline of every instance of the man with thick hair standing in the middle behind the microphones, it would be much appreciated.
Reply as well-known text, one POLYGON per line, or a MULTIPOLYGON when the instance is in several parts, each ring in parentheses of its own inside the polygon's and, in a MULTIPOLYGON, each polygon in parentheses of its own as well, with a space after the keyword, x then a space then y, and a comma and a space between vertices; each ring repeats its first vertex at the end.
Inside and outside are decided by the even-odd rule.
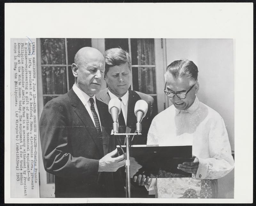
MULTIPOLYGON (((112 98, 118 98, 122 102, 121 113, 118 116, 119 133, 135 132, 137 119, 134 106, 138 100, 145 100, 148 103, 148 112, 141 121, 142 135, 134 136, 131 143, 146 144, 148 129, 155 115, 154 99, 147 94, 129 89, 132 79, 131 58, 126 51, 121 48, 111 48, 105 51, 104 58, 106 63, 104 79, 108 88, 102 90, 96 97, 106 104, 112 98)), ((121 143, 124 144, 124 137, 121 143)))

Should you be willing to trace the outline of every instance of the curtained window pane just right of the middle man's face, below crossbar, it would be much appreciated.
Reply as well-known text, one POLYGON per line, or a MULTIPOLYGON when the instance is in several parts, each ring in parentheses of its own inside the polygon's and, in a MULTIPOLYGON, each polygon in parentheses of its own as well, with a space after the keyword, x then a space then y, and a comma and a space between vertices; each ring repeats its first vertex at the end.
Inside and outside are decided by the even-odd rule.
POLYGON ((132 68, 133 90, 145 94, 156 94, 156 68, 155 67, 133 67, 132 68), (137 70, 137 71, 136 71, 137 70), (138 79, 138 81, 137 81, 138 79))

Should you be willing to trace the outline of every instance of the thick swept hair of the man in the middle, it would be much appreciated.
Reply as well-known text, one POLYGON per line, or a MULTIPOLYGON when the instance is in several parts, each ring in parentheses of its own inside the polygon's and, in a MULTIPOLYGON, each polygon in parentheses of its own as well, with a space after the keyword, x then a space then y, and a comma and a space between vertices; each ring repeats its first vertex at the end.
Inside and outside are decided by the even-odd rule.
POLYGON ((131 57, 128 52, 122 48, 111 48, 105 51, 105 75, 108 73, 109 67, 119 66, 128 62, 131 69, 131 57))

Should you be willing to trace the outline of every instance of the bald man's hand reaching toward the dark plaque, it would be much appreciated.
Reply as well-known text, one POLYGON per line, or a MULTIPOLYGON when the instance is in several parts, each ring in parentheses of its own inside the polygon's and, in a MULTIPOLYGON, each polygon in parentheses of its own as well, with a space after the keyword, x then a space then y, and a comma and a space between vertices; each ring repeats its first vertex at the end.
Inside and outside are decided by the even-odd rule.
POLYGON ((116 155, 117 149, 113 150, 112 152, 106 154, 103 158, 99 161, 99 172, 116 172, 119 167, 125 165, 124 155, 112 158, 116 155))

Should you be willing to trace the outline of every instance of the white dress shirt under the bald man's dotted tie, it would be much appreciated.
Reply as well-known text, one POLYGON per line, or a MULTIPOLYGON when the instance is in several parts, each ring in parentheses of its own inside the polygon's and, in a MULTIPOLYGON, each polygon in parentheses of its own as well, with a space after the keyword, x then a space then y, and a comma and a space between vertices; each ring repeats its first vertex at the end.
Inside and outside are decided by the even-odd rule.
MULTIPOLYGON (((76 85, 76 83, 73 85, 72 89, 74 90, 74 92, 76 93, 76 95, 78 96, 78 98, 82 101, 84 107, 86 108, 87 112, 89 113, 92 121, 93 121, 93 124, 94 126, 96 127, 95 125, 95 121, 94 121, 94 118, 93 118, 93 115, 92 115, 92 111, 91 111, 91 102, 90 102, 90 96, 88 94, 86 94, 85 92, 83 92, 81 89, 79 89, 76 85)), ((100 116, 99 116, 99 111, 98 111, 98 108, 97 108, 97 105, 96 105, 96 98, 95 98, 95 95, 92 96, 93 100, 94 100, 94 108, 95 108, 95 111, 98 115, 98 118, 99 118, 99 121, 100 121, 100 116)), ((101 122, 100 122, 100 128, 101 128, 101 122)))

